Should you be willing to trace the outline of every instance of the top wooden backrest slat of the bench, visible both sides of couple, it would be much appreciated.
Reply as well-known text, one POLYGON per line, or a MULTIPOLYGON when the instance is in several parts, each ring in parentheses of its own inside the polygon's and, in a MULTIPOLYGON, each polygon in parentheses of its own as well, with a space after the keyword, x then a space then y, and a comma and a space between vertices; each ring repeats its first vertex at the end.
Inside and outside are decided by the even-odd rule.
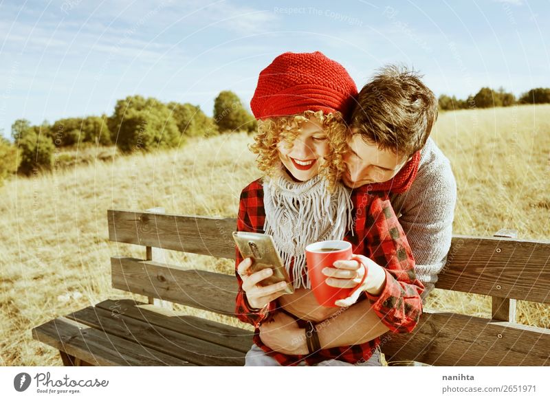
MULTIPOLYGON (((235 219, 107 213, 111 241, 234 259, 235 219)), ((550 243, 456 235, 436 287, 550 303, 550 243)))

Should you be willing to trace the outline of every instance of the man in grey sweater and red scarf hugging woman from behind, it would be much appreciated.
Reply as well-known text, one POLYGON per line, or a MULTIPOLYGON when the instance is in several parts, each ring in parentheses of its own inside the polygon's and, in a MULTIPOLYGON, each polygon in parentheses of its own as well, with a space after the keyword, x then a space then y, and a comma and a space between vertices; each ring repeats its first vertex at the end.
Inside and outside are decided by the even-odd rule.
MULTIPOLYGON (((369 192, 390 193, 415 256, 417 277, 426 287, 422 298, 433 289, 445 265, 456 203, 450 163, 429 139, 436 119, 437 99, 417 74, 393 66, 382 69, 358 95, 350 121, 348 171, 342 179, 353 188, 354 218, 360 218, 362 198, 369 192)), ((329 285, 354 287, 357 264, 341 262, 338 268, 329 269, 329 285)), ((353 304, 358 294, 347 304, 353 304)), ((303 299, 296 307, 296 315, 320 310, 318 321, 330 316, 322 314, 314 298, 303 299)), ((333 315, 318 323, 316 330, 321 347, 331 348, 367 342, 388 328, 369 300, 362 300, 336 318, 333 315)), ((263 342, 281 353, 291 351, 303 335, 285 313, 277 313, 260 331, 263 342)))

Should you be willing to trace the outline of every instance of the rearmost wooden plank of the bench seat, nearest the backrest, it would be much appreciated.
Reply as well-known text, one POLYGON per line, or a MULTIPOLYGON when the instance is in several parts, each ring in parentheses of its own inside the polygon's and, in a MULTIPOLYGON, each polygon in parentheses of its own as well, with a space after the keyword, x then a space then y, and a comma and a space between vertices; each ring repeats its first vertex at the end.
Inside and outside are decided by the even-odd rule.
POLYGON ((234 326, 205 320, 193 315, 185 315, 177 311, 166 311, 166 309, 131 299, 105 300, 96 304, 96 308, 143 320, 148 324, 198 337, 206 342, 219 344, 242 353, 249 351, 252 346, 252 336, 254 335, 252 331, 245 331, 234 326))

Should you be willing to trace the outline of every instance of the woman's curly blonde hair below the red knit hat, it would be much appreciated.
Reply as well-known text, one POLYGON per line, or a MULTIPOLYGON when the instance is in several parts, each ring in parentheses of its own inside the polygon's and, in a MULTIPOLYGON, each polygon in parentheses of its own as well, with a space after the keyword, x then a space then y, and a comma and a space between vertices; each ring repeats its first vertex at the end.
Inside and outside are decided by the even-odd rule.
POLYGON ((338 111, 325 115, 322 111, 304 111, 296 115, 267 118, 258 121, 258 133, 250 151, 257 154, 256 163, 259 170, 268 176, 275 177, 283 168, 279 159, 277 144, 281 140, 294 142, 300 133, 302 124, 316 118, 329 140, 329 154, 319 166, 319 174, 329 183, 329 190, 336 188, 337 182, 344 173, 344 153, 347 151, 347 125, 338 111))

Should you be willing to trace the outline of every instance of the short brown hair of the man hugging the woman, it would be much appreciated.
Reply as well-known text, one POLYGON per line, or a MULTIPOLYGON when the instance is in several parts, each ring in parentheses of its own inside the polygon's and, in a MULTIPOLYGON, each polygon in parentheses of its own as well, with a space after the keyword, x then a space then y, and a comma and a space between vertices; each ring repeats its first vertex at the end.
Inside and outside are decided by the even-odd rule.
POLYGON ((426 144, 437 120, 437 99, 406 67, 386 65, 364 85, 351 116, 351 129, 366 142, 410 156, 426 144))

